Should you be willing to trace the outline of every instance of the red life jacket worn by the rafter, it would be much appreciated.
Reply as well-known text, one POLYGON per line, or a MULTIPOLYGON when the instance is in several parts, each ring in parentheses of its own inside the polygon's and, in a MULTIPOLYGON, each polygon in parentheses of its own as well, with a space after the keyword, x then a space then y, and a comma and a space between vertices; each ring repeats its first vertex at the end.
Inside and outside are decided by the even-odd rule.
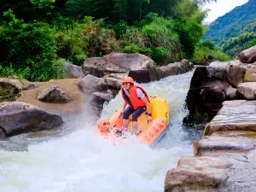
POLYGON ((145 94, 145 96, 146 96, 146 98, 148 99, 148 102, 149 102, 148 94, 146 93, 145 90, 143 90, 142 87, 137 86, 137 85, 133 85, 130 89, 130 92, 129 92, 130 97, 126 96, 124 86, 121 88, 121 93, 122 93, 122 96, 123 96, 125 102, 127 102, 127 104, 131 108, 133 108, 134 110, 136 110, 137 108, 146 106, 146 103, 143 102, 143 100, 140 97, 137 96, 137 88, 143 91, 143 94, 145 94))

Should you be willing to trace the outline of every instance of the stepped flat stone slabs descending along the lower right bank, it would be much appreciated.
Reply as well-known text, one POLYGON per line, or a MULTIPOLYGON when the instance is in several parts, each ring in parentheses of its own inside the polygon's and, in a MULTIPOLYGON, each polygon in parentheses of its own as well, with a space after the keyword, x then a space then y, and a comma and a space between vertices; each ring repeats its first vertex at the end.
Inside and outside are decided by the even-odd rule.
POLYGON ((223 102, 193 144, 195 157, 167 173, 165 191, 256 191, 255 113, 256 101, 223 102))

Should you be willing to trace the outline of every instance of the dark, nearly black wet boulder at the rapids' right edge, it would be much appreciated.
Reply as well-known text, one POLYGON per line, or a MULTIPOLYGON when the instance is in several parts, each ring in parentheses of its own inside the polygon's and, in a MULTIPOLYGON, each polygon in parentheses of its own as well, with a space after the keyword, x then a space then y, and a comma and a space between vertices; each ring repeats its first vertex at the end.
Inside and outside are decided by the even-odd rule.
POLYGON ((210 119, 226 99, 227 74, 222 67, 196 67, 187 96, 189 116, 207 113, 210 119))

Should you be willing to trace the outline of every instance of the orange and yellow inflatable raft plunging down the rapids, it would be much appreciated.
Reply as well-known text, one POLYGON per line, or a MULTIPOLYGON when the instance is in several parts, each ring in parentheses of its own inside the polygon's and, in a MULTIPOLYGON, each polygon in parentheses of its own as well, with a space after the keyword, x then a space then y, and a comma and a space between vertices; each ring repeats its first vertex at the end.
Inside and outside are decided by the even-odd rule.
MULTIPOLYGON (((165 99, 158 96, 149 97, 150 108, 152 113, 152 121, 148 123, 146 113, 143 113, 138 118, 138 126, 143 128, 143 131, 137 136, 140 143, 151 145, 157 143, 160 137, 166 131, 169 125, 169 106, 165 99)), ((119 108, 109 119, 100 119, 97 123, 98 132, 102 137, 108 138, 109 134, 115 134, 120 137, 123 131, 123 115, 122 108, 119 108)), ((132 127, 131 116, 129 128, 132 127)))

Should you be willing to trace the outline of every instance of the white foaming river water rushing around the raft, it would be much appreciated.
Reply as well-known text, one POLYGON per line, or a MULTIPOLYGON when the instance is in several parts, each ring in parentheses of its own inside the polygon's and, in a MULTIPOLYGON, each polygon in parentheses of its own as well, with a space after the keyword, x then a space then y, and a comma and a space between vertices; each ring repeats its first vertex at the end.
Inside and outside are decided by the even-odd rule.
MULTIPOLYGON (((166 136, 153 147, 128 137, 113 143, 96 135, 96 122, 84 113, 67 117, 53 131, 22 134, 0 141, 2 192, 153 192, 163 191, 166 172, 182 156, 193 155, 196 136, 182 125, 192 72, 141 84, 150 96, 170 105, 166 136)), ((120 95, 104 106, 109 117, 121 106, 120 95)))

